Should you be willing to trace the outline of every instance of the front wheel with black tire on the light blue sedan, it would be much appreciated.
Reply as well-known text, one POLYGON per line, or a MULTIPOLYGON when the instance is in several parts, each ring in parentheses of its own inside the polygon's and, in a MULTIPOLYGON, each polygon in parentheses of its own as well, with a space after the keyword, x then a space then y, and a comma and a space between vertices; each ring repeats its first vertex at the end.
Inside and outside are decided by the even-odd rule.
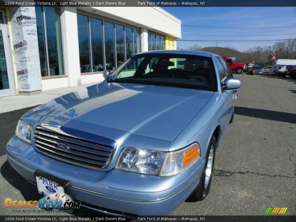
POLYGON ((204 170, 199 179, 198 186, 195 188, 195 190, 191 193, 191 195, 188 198, 190 201, 201 201, 208 196, 208 193, 211 187, 213 170, 214 170, 215 149, 216 149, 216 139, 214 135, 212 135, 212 138, 207 150, 204 170), (208 169, 208 167, 210 169, 208 169))

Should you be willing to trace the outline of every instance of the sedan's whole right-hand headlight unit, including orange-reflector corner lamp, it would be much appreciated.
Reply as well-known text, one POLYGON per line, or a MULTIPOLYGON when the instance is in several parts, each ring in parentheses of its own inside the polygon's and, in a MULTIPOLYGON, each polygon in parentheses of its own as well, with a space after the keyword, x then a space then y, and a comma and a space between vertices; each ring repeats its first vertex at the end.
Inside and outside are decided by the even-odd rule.
POLYGON ((184 171, 200 157, 197 143, 182 150, 161 152, 125 147, 115 169, 159 176, 172 176, 184 171))

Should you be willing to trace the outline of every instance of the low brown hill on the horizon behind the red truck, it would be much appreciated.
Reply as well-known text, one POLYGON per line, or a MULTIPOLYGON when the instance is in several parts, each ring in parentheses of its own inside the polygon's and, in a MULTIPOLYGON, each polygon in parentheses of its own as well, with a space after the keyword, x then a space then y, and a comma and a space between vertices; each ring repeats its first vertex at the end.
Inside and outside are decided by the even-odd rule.
POLYGON ((236 56, 237 61, 241 63, 249 63, 251 62, 252 55, 246 52, 236 51, 235 49, 231 48, 224 48, 224 47, 205 47, 199 49, 200 51, 212 52, 218 54, 220 56, 236 56))

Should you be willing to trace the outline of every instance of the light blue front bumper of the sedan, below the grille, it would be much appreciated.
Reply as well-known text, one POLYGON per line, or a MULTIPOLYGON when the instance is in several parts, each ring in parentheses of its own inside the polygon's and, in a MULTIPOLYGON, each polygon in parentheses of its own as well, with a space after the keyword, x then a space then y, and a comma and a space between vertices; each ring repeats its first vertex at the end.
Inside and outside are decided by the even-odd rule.
POLYGON ((15 136, 8 142, 6 153, 10 165, 31 182, 35 183, 37 169, 68 180, 72 198, 81 201, 82 206, 117 216, 170 213, 198 185, 204 166, 199 160, 171 177, 115 169, 97 171, 47 157, 15 136))

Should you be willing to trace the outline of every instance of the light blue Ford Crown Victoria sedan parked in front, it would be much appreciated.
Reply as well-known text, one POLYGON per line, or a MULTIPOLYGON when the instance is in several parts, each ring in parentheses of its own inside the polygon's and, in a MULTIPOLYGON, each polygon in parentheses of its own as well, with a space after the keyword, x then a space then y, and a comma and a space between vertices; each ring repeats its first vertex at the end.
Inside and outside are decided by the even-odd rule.
POLYGON ((24 114, 6 146, 11 166, 39 193, 111 215, 203 200, 241 86, 222 57, 150 51, 103 75, 24 114))

